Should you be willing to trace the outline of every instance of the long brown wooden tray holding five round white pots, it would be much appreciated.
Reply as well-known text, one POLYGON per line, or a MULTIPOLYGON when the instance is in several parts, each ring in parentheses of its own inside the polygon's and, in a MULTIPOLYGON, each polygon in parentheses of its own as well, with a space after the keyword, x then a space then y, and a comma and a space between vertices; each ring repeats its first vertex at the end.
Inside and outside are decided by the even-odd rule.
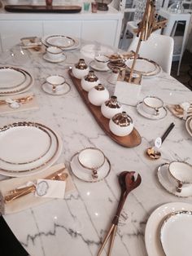
POLYGON ((142 142, 142 138, 137 132, 137 130, 133 128, 133 131, 131 132, 130 135, 123 137, 112 134, 111 130, 109 129, 109 119, 103 117, 100 107, 94 106, 93 104, 89 103, 88 93, 82 89, 81 80, 77 79, 76 77, 73 77, 71 69, 68 71, 68 73, 72 79, 72 82, 76 86, 76 90, 78 90, 79 94, 81 95, 81 98, 84 100, 90 112, 93 114, 95 120, 98 122, 98 125, 105 131, 105 133, 116 143, 119 143, 121 146, 124 146, 126 148, 137 147, 142 142))

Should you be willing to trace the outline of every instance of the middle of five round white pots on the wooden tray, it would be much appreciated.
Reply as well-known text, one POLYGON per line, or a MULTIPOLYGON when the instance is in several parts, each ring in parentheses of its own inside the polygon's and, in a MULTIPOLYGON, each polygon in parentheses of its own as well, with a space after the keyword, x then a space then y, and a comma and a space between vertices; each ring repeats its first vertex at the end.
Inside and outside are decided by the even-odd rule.
POLYGON ((103 85, 98 84, 89 90, 88 99, 91 104, 101 106, 103 102, 109 99, 109 92, 103 85))

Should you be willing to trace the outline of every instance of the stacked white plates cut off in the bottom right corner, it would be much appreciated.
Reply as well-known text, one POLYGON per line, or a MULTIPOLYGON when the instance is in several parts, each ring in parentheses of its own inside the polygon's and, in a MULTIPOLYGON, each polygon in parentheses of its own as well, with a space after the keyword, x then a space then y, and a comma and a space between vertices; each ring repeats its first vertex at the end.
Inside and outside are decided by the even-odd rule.
POLYGON ((148 256, 190 256, 192 205, 168 203, 156 209, 146 223, 148 256))

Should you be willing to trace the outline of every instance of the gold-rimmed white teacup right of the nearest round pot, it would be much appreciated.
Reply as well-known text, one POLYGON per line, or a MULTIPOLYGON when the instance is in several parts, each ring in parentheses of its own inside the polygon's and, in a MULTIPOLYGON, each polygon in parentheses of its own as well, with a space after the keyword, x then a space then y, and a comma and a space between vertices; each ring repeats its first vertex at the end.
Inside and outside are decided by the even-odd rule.
POLYGON ((155 96, 146 96, 142 100, 142 109, 150 115, 159 115, 159 109, 164 107, 164 102, 155 96))

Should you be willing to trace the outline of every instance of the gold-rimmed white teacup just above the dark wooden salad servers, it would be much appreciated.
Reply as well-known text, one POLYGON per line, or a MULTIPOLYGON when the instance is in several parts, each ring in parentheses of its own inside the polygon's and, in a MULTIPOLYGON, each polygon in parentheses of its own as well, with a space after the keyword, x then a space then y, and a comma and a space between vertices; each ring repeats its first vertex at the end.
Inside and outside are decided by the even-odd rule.
POLYGON ((78 161, 85 174, 91 174, 94 179, 98 179, 98 169, 104 165, 105 155, 98 148, 85 148, 79 152, 78 161))

